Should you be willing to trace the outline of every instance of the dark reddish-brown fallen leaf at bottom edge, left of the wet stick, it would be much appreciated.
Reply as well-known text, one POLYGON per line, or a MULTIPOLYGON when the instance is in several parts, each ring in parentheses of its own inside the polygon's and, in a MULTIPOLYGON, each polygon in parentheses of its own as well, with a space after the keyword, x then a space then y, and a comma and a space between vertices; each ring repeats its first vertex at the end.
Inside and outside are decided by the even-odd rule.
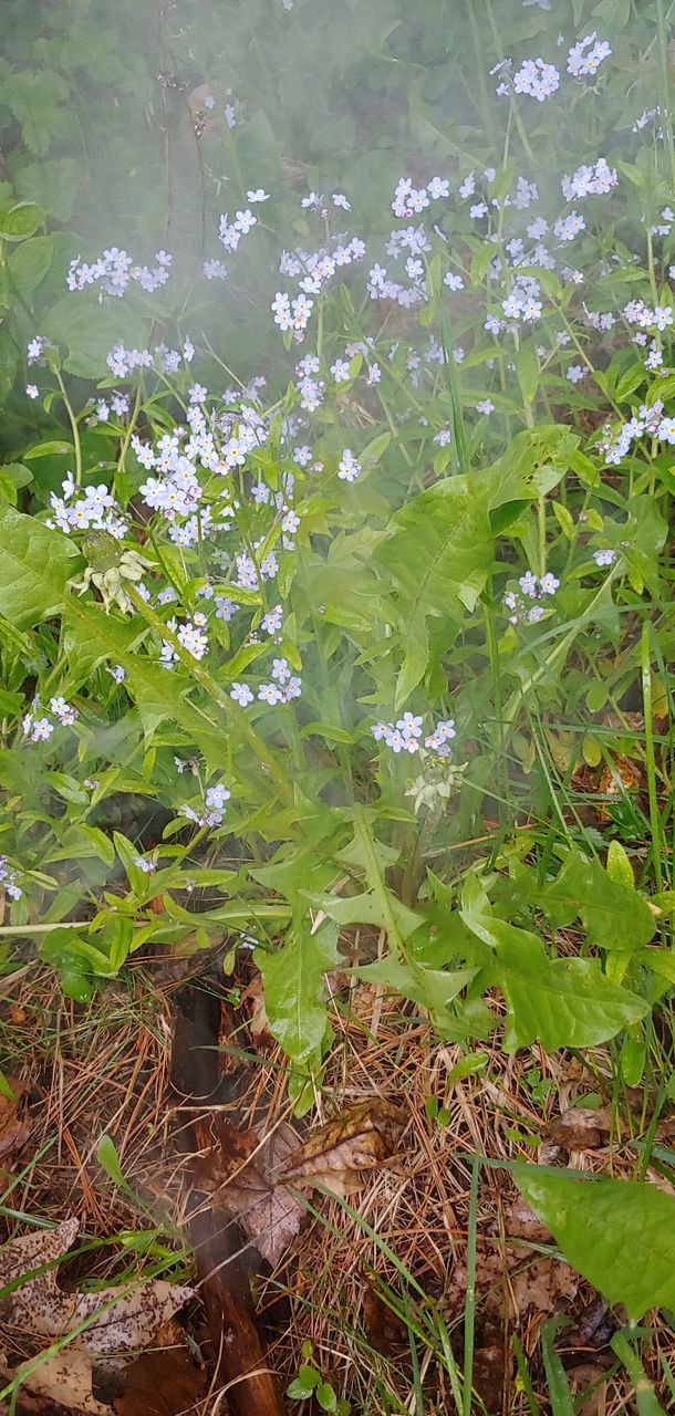
POLYGON ((185 1345, 163 1347, 136 1357, 122 1381, 117 1416, 178 1416, 198 1402, 205 1374, 185 1345))

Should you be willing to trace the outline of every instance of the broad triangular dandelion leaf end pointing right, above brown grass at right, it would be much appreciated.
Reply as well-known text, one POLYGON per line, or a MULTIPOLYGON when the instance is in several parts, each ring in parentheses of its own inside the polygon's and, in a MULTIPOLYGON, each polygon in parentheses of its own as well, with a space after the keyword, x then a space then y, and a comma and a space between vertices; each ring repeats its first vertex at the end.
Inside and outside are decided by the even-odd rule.
POLYGON ((642 998, 610 983, 596 960, 549 959, 536 935, 502 919, 492 929, 508 1008, 507 1052, 536 1039, 549 1052, 594 1046, 648 1011, 642 998))

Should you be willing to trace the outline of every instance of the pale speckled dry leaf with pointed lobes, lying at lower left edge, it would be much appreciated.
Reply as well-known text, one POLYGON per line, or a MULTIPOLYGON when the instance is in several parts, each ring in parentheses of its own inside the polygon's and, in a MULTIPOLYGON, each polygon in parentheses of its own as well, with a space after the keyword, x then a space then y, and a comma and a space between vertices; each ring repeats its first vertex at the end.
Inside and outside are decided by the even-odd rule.
POLYGON ((0 1286, 25 1276, 25 1281, 6 1298, 8 1321, 38 1337, 55 1338, 72 1332, 105 1307, 98 1321, 74 1340, 79 1348, 102 1355, 146 1347, 157 1328, 192 1297, 192 1289, 149 1279, 137 1287, 64 1293, 57 1284, 58 1260, 68 1253, 78 1229, 76 1218, 64 1219, 57 1229, 40 1229, 4 1245, 0 1250, 0 1286), (50 1269, 34 1273, 47 1263, 51 1263, 50 1269))

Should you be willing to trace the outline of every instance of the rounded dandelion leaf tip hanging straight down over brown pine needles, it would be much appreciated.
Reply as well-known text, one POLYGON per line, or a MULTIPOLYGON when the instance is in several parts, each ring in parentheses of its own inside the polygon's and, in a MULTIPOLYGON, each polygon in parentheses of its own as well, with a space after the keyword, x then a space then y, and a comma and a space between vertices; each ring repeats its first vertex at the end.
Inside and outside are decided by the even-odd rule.
POLYGON ((314 935, 293 926, 276 953, 256 952, 270 1032, 294 1062, 321 1054, 327 1034, 323 980, 340 963, 337 940, 331 923, 314 935))

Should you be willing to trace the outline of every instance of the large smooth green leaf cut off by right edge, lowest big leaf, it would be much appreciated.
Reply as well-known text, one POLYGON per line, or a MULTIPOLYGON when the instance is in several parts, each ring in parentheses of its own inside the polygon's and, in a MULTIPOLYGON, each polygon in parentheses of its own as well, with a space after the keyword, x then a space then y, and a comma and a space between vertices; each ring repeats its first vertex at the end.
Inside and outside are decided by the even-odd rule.
POLYGON ((577 1181, 515 1165, 518 1189, 565 1257, 637 1321, 675 1307, 675 1198, 642 1181, 577 1181))

